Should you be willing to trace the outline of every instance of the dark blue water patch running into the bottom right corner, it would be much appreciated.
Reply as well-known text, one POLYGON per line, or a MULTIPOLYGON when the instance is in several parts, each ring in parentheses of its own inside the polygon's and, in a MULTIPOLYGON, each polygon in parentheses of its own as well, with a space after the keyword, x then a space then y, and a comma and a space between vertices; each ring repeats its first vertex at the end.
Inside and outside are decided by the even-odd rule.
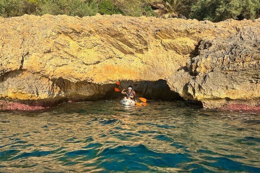
POLYGON ((247 166, 240 162, 233 161, 226 157, 203 157, 214 162, 203 162, 203 164, 211 167, 217 167, 220 171, 246 171, 246 172, 260 172, 260 167, 247 166))

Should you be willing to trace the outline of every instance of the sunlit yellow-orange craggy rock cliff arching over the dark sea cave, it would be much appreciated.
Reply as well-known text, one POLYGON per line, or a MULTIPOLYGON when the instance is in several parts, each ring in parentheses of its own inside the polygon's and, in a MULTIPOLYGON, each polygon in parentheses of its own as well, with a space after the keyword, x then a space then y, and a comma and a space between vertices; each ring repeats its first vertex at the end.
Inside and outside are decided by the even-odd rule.
POLYGON ((24 15, 0 17, 0 30, 0 109, 99 99, 116 81, 161 79, 206 108, 259 107, 260 19, 24 15))

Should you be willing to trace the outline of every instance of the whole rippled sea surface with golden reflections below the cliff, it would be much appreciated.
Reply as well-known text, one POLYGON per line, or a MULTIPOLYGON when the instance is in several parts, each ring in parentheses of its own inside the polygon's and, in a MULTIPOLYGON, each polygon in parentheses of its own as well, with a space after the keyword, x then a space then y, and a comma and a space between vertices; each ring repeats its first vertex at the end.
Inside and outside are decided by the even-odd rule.
POLYGON ((0 172, 260 172, 260 116, 184 102, 0 112, 0 172))

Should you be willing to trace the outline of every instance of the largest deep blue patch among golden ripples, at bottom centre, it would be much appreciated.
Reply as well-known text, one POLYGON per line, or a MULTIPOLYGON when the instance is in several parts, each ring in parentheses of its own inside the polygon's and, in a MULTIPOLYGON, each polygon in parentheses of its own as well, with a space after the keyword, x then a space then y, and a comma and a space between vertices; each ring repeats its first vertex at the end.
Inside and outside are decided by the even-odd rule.
POLYGON ((148 165, 178 167, 178 164, 190 162, 186 154, 154 152, 142 144, 106 148, 100 155, 104 157, 100 166, 108 171, 147 171, 150 169, 148 165))

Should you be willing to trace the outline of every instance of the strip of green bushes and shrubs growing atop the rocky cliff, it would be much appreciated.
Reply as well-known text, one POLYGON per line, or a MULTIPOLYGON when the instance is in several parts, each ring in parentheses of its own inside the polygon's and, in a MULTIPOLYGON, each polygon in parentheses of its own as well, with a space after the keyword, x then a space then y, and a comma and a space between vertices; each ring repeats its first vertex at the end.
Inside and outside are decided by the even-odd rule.
POLYGON ((260 17, 260 0, 0 0, 2 17, 24 14, 181 17, 213 22, 260 17))

